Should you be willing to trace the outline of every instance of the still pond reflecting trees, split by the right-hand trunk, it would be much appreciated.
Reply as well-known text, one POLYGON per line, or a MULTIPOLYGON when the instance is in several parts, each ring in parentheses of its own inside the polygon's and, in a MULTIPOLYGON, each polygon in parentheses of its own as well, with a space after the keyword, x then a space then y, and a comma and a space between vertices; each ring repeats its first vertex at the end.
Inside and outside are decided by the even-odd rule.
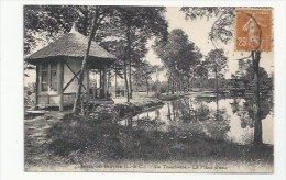
MULTIPOLYGON (((189 95, 166 101, 163 106, 130 116, 120 122, 132 128, 176 132, 179 138, 207 136, 212 139, 250 144, 253 142, 253 97, 219 98, 189 95)), ((273 145, 273 97, 263 97, 263 143, 273 145)))

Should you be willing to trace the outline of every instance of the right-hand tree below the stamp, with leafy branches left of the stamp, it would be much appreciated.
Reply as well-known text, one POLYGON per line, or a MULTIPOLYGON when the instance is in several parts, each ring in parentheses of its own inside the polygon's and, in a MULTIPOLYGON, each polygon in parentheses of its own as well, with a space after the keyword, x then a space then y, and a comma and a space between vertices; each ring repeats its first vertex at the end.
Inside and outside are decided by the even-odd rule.
MULTIPOLYGON (((215 21, 211 31, 209 33, 209 37, 217 48, 216 41, 221 41, 223 43, 229 43, 233 37, 233 22, 234 22, 234 10, 235 8, 230 7, 206 7, 206 8, 190 8, 184 7, 182 11, 185 12, 186 19, 195 20, 198 18, 206 16, 217 18, 215 21)), ((254 21, 255 19, 251 16, 254 21)), ((255 21, 256 25, 260 27, 260 24, 255 21)), ((261 33, 261 29, 260 29, 261 33)), ((260 35, 258 35, 260 36, 260 35)), ((258 43, 261 44, 261 42, 258 43)), ((258 46, 260 47, 260 46, 258 46)), ((258 49, 258 48, 257 48, 258 49)), ((255 121, 255 131, 254 131, 254 144, 262 144, 262 122, 261 122, 261 103, 260 103, 260 60, 261 60, 261 52, 260 50, 251 50, 250 57, 252 58, 253 70, 254 70, 254 121, 255 121)))

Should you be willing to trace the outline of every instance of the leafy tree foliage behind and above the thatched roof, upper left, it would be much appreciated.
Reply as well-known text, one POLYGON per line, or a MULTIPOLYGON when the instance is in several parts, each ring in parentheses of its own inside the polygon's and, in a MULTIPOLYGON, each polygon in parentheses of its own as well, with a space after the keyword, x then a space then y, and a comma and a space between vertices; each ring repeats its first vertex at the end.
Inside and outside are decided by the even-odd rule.
POLYGON ((86 5, 25 5, 24 53, 30 54, 38 44, 46 44, 69 32, 75 21, 79 32, 88 35, 91 13, 94 8, 86 5))

